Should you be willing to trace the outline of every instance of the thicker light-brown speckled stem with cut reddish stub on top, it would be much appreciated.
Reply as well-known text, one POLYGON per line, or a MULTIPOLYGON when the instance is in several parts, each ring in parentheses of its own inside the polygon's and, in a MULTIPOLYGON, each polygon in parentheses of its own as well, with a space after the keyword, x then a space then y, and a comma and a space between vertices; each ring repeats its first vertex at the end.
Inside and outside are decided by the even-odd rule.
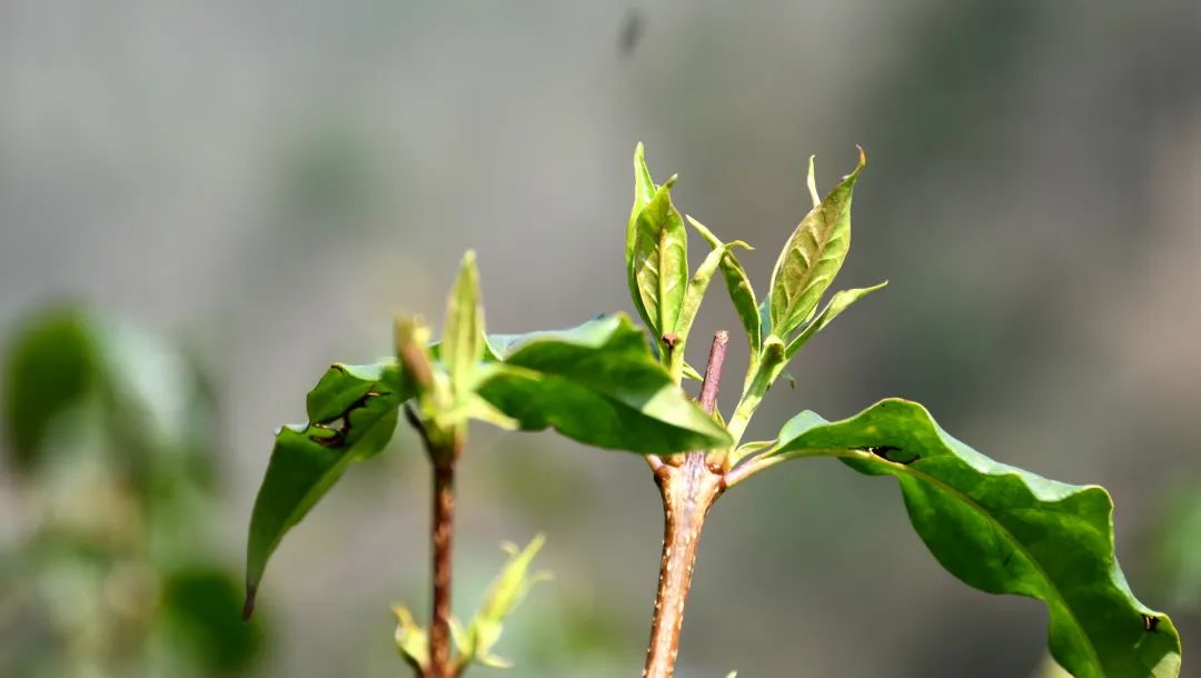
MULTIPOLYGON (((729 334, 713 336, 700 386, 700 406, 712 414, 717 388, 725 362, 729 334)), ((659 586, 655 596, 651 641, 646 650, 644 678, 671 678, 680 652, 683 606, 692 586, 692 571, 700 546, 700 533, 710 506, 721 496, 722 472, 705 462, 705 451, 688 452, 681 466, 664 464, 656 469, 655 482, 663 496, 663 557, 659 560, 659 586)))

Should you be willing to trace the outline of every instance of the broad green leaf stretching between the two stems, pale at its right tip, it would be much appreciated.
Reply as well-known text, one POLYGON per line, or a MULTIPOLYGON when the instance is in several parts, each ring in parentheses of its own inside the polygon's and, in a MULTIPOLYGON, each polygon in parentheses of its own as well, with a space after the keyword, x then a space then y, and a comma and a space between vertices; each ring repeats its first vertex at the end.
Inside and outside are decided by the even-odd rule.
POLYGON ((625 314, 539 332, 502 355, 486 367, 478 392, 522 430, 552 427, 588 445, 643 454, 730 444, 625 314))

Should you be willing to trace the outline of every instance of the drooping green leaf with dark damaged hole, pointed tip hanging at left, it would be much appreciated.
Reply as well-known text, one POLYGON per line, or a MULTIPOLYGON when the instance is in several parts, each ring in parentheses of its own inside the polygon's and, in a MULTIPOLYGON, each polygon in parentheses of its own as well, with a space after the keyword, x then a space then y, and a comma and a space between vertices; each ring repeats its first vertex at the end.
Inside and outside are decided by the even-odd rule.
POLYGON ((400 404, 412 395, 393 360, 334 365, 309 394, 309 424, 280 428, 250 518, 244 614, 253 610, 267 560, 283 535, 351 462, 371 457, 388 444, 400 404))

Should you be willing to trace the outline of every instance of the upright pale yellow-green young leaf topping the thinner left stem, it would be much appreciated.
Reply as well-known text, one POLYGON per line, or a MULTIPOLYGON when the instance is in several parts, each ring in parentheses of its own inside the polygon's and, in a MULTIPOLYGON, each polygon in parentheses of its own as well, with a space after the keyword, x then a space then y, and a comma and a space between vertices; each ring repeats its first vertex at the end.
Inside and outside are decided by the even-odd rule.
POLYGON ((476 366, 484 356, 484 311, 479 304, 479 271, 476 253, 462 257, 459 277, 447 300, 446 326, 441 343, 442 361, 450 373, 455 397, 471 391, 476 366))

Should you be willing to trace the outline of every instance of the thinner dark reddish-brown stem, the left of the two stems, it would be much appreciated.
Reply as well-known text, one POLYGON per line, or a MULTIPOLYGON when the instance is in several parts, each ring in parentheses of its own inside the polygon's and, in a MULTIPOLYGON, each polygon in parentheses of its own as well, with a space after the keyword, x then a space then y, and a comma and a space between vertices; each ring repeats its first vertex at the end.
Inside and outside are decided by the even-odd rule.
POLYGON ((450 661, 450 552, 454 536, 454 460, 434 466, 434 611, 429 678, 454 678, 450 661))

